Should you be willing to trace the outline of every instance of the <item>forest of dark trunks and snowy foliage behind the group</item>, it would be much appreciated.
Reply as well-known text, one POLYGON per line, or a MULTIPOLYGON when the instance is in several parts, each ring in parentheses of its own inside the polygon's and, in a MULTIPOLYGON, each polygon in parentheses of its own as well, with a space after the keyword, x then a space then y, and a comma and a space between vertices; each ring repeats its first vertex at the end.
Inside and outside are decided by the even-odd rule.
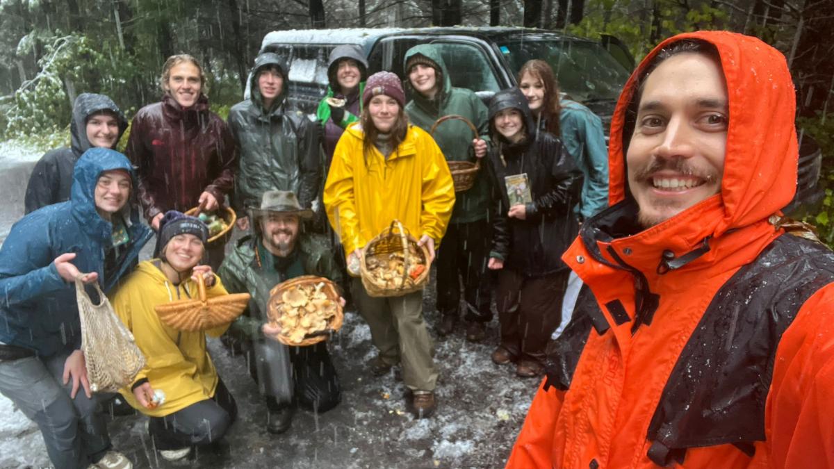
POLYGON ((160 98, 159 73, 173 53, 203 63, 212 108, 225 117, 243 96, 264 34, 275 30, 528 26, 587 38, 610 34, 639 60, 673 34, 726 29, 785 53, 798 129, 823 154, 826 197, 806 220, 831 245, 832 21, 831 0, 0 0, 0 139, 43 149, 67 145, 78 93, 107 94, 132 117, 160 98))

